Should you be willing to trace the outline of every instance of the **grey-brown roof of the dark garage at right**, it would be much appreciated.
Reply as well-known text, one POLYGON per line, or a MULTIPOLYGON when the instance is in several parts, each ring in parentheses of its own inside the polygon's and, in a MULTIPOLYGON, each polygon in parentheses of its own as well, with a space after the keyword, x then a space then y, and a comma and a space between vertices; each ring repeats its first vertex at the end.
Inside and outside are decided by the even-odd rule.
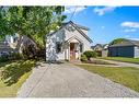
POLYGON ((121 43, 111 45, 109 47, 119 47, 119 46, 139 46, 139 41, 124 39, 121 43))

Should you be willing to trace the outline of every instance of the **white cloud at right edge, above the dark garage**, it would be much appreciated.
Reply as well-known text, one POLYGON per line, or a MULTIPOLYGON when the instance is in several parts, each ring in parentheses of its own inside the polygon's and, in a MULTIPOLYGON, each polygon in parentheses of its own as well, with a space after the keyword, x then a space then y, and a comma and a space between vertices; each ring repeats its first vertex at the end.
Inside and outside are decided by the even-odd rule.
POLYGON ((139 22, 123 22, 120 24, 123 27, 132 27, 132 28, 139 28, 139 22))

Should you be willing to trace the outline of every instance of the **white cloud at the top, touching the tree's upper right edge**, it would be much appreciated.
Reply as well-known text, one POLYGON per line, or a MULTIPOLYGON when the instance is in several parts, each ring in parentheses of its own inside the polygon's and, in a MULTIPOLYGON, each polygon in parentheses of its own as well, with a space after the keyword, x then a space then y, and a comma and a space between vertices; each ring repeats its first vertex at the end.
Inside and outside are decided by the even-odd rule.
POLYGON ((74 10, 76 10, 76 13, 77 13, 77 12, 81 12, 85 9, 86 9, 85 7, 66 7, 65 13, 73 13, 74 10))

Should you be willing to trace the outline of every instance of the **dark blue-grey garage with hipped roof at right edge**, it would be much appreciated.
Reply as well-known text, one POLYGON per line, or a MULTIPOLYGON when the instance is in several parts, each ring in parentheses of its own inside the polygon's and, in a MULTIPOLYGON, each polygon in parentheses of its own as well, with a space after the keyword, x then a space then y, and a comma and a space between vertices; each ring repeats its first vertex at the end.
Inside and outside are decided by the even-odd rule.
POLYGON ((108 47, 111 57, 139 57, 139 41, 125 39, 108 47))

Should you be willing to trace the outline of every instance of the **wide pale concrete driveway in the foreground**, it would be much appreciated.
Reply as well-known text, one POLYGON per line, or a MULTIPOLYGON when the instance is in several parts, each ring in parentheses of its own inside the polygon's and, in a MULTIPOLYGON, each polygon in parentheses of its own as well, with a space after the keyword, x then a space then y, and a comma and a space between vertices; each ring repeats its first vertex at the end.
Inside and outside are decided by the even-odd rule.
POLYGON ((138 97, 139 93, 71 63, 40 63, 18 97, 138 97))

